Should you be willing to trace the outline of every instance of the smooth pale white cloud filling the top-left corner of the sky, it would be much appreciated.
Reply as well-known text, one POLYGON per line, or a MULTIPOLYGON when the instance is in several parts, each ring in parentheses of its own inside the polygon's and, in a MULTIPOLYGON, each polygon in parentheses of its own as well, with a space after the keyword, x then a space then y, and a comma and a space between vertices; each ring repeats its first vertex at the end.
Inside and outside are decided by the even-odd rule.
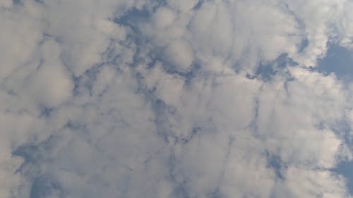
POLYGON ((32 4, 28 3, 24 8, 11 6, 1 9, 1 82, 16 68, 34 61, 32 56, 35 56, 37 43, 42 39, 43 24, 38 20, 39 11, 32 4))

